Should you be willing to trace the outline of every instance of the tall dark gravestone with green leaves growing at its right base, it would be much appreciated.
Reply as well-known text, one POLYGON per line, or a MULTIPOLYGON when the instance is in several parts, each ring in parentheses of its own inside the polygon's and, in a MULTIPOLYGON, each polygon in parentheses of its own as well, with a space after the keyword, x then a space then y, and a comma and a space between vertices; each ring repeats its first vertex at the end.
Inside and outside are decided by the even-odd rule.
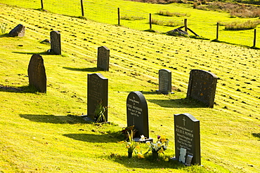
MULTIPOLYGON (((99 102, 104 107, 108 107, 108 78, 102 74, 88 74, 87 89, 87 116, 94 119, 94 112, 99 102)), ((105 120, 108 121, 108 110, 104 113, 105 120)))

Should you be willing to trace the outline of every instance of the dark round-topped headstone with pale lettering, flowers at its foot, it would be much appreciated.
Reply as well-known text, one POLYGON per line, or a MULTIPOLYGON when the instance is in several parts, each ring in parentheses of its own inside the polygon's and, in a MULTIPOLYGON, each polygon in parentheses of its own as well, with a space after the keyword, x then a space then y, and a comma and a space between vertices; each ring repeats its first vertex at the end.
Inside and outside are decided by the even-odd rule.
POLYGON ((143 134, 149 138, 148 106, 145 97, 139 91, 130 92, 126 100, 127 126, 134 125, 138 130, 136 137, 143 134))

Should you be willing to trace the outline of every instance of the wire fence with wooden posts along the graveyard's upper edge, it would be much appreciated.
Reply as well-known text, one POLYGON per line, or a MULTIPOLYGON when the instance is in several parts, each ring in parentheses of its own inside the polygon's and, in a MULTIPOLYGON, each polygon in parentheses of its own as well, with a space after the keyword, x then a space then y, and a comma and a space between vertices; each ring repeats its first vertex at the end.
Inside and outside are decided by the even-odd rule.
MULTIPOLYGON (((1 1, 4 0, 0 0, 0 2, 1 1)), ((24 0, 15 1, 15 4, 13 4, 6 0, 3 3, 25 8, 42 8, 52 13, 75 17, 81 16, 88 20, 110 25, 121 25, 123 27, 129 27, 141 31, 152 29, 161 33, 169 32, 170 30, 183 26, 186 18, 186 16, 169 17, 153 13, 151 18, 152 21, 157 21, 157 25, 151 25, 150 13, 131 11, 124 7, 118 8, 110 1, 105 1, 103 4, 85 0, 70 0, 69 2, 70 3, 68 4, 67 1, 60 0, 24 0)), ((209 40, 214 40, 217 37, 216 25, 216 22, 205 22, 195 20, 194 18, 188 19, 188 27, 197 35, 209 40)), ((254 29, 228 31, 224 26, 219 26, 218 34, 218 41, 248 47, 257 47, 257 43, 260 39, 259 34, 256 33, 256 35, 254 35, 254 29)))

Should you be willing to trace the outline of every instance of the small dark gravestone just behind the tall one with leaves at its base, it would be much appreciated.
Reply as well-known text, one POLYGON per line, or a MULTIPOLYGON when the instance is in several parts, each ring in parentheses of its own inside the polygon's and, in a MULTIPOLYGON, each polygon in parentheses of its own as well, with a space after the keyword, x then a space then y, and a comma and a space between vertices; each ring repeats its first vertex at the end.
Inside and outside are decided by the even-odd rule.
POLYGON ((109 56, 110 50, 105 47, 101 46, 98 48, 98 65, 97 67, 103 69, 104 71, 109 70, 109 56))

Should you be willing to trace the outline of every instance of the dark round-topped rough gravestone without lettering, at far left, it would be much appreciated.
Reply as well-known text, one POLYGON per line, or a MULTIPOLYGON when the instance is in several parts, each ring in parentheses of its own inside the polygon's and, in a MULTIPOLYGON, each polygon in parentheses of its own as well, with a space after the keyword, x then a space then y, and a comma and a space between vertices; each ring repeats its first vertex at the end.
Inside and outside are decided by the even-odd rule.
POLYGON ((46 92, 47 79, 44 67, 44 59, 41 55, 32 55, 28 66, 29 85, 36 88, 39 92, 46 92))

